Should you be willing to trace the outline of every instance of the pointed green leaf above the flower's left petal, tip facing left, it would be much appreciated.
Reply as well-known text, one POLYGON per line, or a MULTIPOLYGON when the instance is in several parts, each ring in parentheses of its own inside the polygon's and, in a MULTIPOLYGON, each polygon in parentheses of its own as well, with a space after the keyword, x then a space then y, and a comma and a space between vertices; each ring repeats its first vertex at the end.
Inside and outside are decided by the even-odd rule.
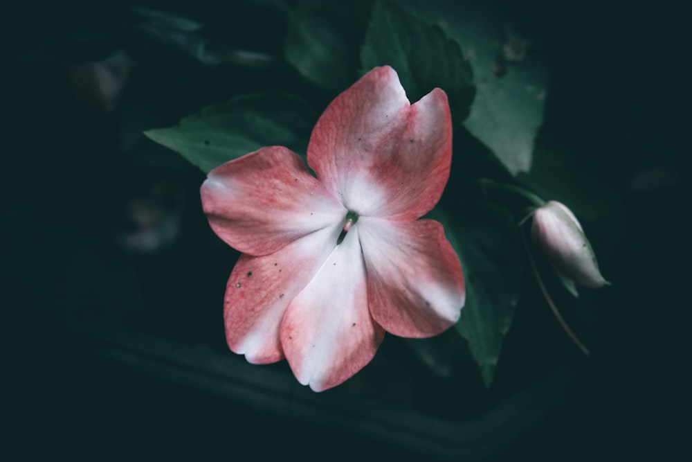
POLYGON ((147 130, 156 143, 209 172, 264 146, 282 145, 303 154, 317 114, 286 94, 255 94, 205 107, 170 128, 147 130))

